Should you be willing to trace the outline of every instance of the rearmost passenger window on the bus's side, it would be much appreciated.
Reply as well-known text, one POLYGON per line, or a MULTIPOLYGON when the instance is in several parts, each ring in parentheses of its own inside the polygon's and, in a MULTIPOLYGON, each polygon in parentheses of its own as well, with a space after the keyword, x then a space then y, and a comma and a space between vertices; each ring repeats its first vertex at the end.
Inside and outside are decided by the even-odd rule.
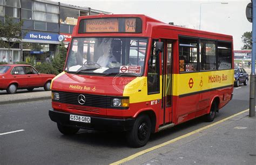
POLYGON ((219 69, 232 68, 232 50, 230 42, 218 42, 219 69))

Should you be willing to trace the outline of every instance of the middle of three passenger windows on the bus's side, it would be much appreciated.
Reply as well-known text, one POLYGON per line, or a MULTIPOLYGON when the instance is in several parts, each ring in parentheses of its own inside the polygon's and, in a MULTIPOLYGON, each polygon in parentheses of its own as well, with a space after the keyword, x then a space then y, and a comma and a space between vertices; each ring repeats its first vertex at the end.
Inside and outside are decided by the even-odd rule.
POLYGON ((216 69, 215 41, 200 40, 200 70, 216 69))

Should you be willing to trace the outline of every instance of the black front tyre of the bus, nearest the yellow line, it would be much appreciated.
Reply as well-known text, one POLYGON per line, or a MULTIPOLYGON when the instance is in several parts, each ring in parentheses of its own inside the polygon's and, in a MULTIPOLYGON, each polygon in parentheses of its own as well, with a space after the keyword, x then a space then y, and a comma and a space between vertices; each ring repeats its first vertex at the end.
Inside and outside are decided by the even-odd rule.
POLYGON ((142 147, 147 144, 151 134, 151 121, 149 116, 140 115, 136 118, 132 130, 127 132, 127 142, 131 147, 142 147))

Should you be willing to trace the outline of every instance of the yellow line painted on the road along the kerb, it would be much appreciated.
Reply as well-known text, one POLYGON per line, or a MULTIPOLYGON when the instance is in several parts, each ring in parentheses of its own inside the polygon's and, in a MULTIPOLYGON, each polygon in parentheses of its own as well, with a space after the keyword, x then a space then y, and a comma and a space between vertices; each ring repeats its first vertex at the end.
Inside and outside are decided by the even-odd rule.
POLYGON ((239 114, 242 114, 242 113, 247 112, 247 111, 249 111, 249 109, 244 110, 244 111, 241 111, 241 112, 236 113, 236 114, 233 114, 233 115, 230 116, 230 117, 227 117, 227 118, 225 118, 225 119, 219 120, 219 121, 217 121, 217 122, 215 122, 215 123, 213 123, 213 124, 207 125, 207 126, 205 126, 205 127, 199 128, 198 130, 192 131, 192 132, 187 133, 187 134, 185 134, 185 135, 182 135, 182 136, 180 136, 180 137, 178 137, 178 138, 175 138, 175 139, 166 141, 166 142, 164 142, 164 143, 162 143, 162 144, 160 144, 160 145, 157 145, 157 146, 154 146, 154 147, 151 147, 151 148, 147 148, 147 149, 145 149, 145 150, 142 150, 142 151, 140 151, 140 152, 138 152, 138 153, 136 153, 136 154, 133 154, 133 155, 128 156, 128 157, 125 157, 125 158, 122 159, 122 160, 119 160, 119 161, 117 161, 117 162, 113 162, 113 163, 111 163, 110 165, 122 164, 122 163, 124 163, 124 162, 130 161, 130 160, 132 160, 132 159, 134 159, 134 158, 136 158, 136 157, 138 157, 138 156, 140 156, 140 155, 143 155, 143 154, 145 154, 145 153, 151 152, 152 150, 155 150, 155 149, 158 149, 158 148, 160 148, 160 147, 169 145, 169 144, 171 144, 171 143, 173 143, 173 142, 175 142, 175 141, 178 141, 178 140, 180 140, 180 139, 189 137, 189 136, 192 135, 192 134, 195 134, 195 133, 197 133, 197 132, 203 131, 203 130, 205 130, 205 129, 207 129, 207 128, 210 128, 210 127, 212 127, 212 126, 214 126, 214 125, 223 123, 224 121, 226 121, 226 120, 228 120, 228 119, 231 119, 231 118, 233 118, 233 117, 235 117, 235 116, 238 116, 239 114))

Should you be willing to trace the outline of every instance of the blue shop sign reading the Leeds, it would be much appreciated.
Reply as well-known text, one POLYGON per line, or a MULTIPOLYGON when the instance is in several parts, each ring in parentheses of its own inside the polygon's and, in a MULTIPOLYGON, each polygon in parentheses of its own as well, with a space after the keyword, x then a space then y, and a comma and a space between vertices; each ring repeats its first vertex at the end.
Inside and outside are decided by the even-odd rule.
POLYGON ((46 41, 63 41, 64 37, 63 37, 63 35, 59 35, 59 34, 28 32, 28 33, 26 33, 24 39, 46 40, 46 41))

